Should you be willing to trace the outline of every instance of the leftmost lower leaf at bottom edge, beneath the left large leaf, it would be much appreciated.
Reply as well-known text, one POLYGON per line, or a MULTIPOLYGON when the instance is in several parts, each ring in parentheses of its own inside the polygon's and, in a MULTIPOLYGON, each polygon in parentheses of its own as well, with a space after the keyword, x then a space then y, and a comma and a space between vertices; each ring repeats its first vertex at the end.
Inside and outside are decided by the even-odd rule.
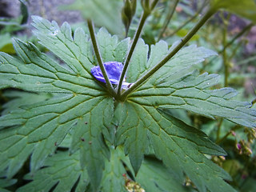
POLYGON ((58 152, 47 158, 44 166, 34 175, 27 174, 25 179, 33 181, 17 191, 50 191, 53 187, 54 191, 71 191, 75 184, 75 191, 84 191, 89 184, 86 170, 79 163, 79 153, 70 156, 67 152, 58 152))

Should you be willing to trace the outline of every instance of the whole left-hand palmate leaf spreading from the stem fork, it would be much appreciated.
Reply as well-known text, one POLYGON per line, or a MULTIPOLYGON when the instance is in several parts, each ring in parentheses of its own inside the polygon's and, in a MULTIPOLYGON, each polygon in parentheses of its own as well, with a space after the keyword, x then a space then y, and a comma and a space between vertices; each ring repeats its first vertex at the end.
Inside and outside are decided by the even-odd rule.
MULTIPOLYGON (((82 166, 86 166, 96 190, 102 178, 104 156, 109 157, 102 132, 109 137, 104 127, 110 127, 113 99, 107 97, 105 89, 90 74, 94 58, 83 30, 76 30, 73 38, 67 23, 59 28, 56 22, 38 17, 34 17, 34 26, 40 43, 65 63, 59 65, 33 44, 18 39, 14 40, 18 58, 1 53, 1 88, 14 87, 52 96, 46 101, 24 102, 15 110, 12 106, 2 115, 2 129, 11 128, 0 134, 0 168, 8 167, 10 178, 32 153, 30 168, 34 172, 71 131, 70 152, 82 150, 82 166)), ((99 39, 100 36, 99 33, 99 39)), ((126 53, 123 44, 117 42, 112 46, 118 59, 126 53)))

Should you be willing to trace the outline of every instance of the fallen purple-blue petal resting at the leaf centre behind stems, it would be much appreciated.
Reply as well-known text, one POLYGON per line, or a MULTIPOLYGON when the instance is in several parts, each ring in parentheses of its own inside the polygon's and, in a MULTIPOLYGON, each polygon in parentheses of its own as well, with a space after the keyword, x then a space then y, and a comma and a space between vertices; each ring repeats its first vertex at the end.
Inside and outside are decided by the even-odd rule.
MULTIPOLYGON (((118 85, 119 78, 122 74, 122 62, 104 62, 103 65, 105 66, 107 76, 110 78, 110 82, 114 85, 118 85)), ((90 72, 98 81, 106 83, 99 66, 94 66, 91 68, 90 72)), ((129 88, 130 85, 131 83, 129 82, 122 82, 123 89, 129 88)))

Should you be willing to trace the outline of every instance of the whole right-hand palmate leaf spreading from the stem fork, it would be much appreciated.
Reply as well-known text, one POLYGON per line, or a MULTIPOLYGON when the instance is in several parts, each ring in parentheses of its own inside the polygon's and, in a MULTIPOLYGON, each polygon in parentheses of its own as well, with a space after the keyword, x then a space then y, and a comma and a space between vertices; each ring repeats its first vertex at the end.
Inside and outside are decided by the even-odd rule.
MULTIPOLYGON (((129 82, 136 81, 170 52, 166 42, 158 42, 151 46, 150 58, 147 60, 148 49, 142 40, 136 49, 142 51, 140 54, 134 53, 131 60, 127 76, 129 82)), ((180 50, 144 85, 130 94, 126 102, 116 108, 122 111, 122 117, 118 117, 120 122, 116 123, 117 144, 124 143, 125 152, 129 154, 135 172, 150 144, 157 157, 178 178, 182 178, 185 172, 198 186, 198 190, 234 191, 222 180, 230 179, 228 174, 203 155, 223 155, 225 152, 204 138, 206 135, 200 131, 186 126, 162 110, 156 110, 158 107, 190 110, 210 118, 220 116, 244 126, 256 126, 256 111, 250 109, 250 103, 230 100, 236 91, 231 88, 207 89, 218 82, 218 75, 198 75, 194 72, 195 64, 214 54, 211 50, 197 46, 180 50)))

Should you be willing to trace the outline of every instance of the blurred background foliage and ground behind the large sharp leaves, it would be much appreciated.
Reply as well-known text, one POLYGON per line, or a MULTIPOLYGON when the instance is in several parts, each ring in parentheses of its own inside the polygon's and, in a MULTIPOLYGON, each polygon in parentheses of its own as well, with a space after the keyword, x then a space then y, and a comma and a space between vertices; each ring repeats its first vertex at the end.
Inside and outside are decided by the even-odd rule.
MULTIPOLYGON (((236 2, 236 0, 222 2, 232 1, 236 2)), ((217 2, 219 1, 211 1, 211 3, 217 2)), ((142 38, 149 46, 159 40, 165 40, 171 46, 186 35, 208 9, 208 6, 207 0, 161 0, 147 20, 142 38)), ((230 4, 223 7, 225 6, 230 8, 231 12, 226 12, 229 9, 219 10, 188 44, 205 46, 218 53, 218 57, 210 58, 197 66, 201 73, 221 75, 220 83, 214 88, 231 86, 239 92, 237 99, 250 101, 253 104, 252 107, 256 108, 256 26, 254 25, 256 12, 250 4, 246 3, 240 10, 236 10, 236 7, 230 4), (254 14, 248 16, 245 14, 249 13, 248 11, 254 14)), ((140 1, 134 0, 0 0, 0 9, 0 51, 13 55, 15 51, 11 44, 12 38, 34 42, 42 51, 47 52, 38 45, 37 40, 30 33, 31 14, 38 14, 50 20, 54 19, 59 24, 65 21, 70 22, 74 29, 81 26, 85 30, 85 19, 93 18, 98 28, 104 26, 110 33, 117 34, 118 38, 126 36, 132 38, 142 14, 140 1)), ((6 102, 18 98, 18 93, 21 92, 17 90, 0 92, 0 109, 4 111, 6 102)), ((230 184, 235 189, 244 192, 255 191, 255 130, 235 125, 222 118, 212 120, 183 110, 171 110, 170 113, 203 130, 213 142, 226 150, 228 153, 226 157, 209 158, 232 176, 233 182, 230 184)), ((27 169, 26 165, 24 169, 27 169)), ((24 175, 22 171, 15 178, 22 180, 24 175)), ((14 180, 1 184, 0 179, 0 190, 1 187, 12 184, 14 180)), ((186 184, 193 186, 189 180, 186 184)), ((19 185, 22 185, 20 181, 10 190, 14 190, 19 185)))

